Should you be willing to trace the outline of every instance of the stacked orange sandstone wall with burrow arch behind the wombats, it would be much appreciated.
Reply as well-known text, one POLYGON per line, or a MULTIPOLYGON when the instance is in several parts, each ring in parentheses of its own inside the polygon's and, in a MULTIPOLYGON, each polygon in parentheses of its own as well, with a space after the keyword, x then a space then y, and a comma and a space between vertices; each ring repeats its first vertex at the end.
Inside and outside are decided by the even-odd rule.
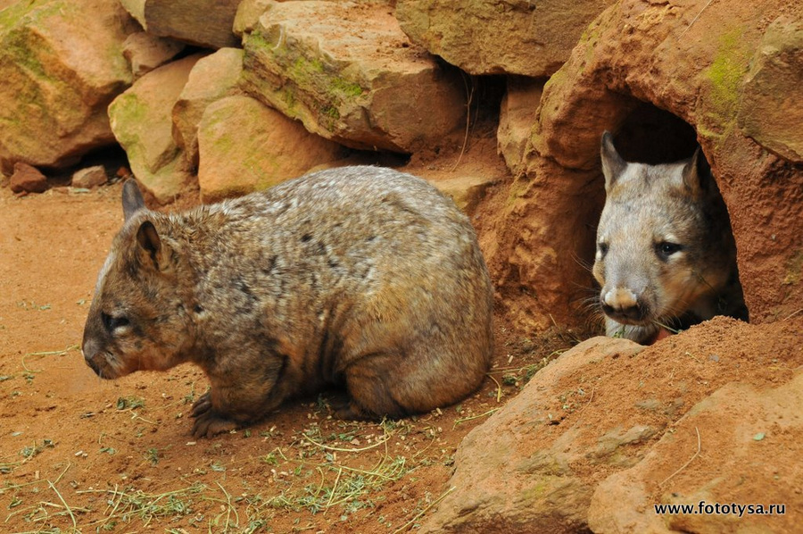
POLYGON ((519 325, 588 321, 604 129, 648 163, 700 143, 751 317, 768 321, 803 303, 801 12, 788 0, 12 3, 0 165, 61 169, 119 143, 159 202, 187 188, 210 201, 354 150, 434 157, 463 137, 471 75, 493 74, 507 91, 485 115, 509 179, 485 204, 468 193, 487 188, 476 176, 443 188, 483 213, 519 325))

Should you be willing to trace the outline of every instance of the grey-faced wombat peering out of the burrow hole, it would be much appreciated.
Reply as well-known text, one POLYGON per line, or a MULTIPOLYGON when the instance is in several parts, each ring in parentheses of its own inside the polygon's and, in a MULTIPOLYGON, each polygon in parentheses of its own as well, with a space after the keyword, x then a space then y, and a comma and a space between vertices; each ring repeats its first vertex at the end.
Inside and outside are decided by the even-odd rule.
POLYGON ((649 344, 715 315, 748 320, 727 209, 700 148, 660 165, 601 143, 605 207, 593 275, 608 336, 649 344))

